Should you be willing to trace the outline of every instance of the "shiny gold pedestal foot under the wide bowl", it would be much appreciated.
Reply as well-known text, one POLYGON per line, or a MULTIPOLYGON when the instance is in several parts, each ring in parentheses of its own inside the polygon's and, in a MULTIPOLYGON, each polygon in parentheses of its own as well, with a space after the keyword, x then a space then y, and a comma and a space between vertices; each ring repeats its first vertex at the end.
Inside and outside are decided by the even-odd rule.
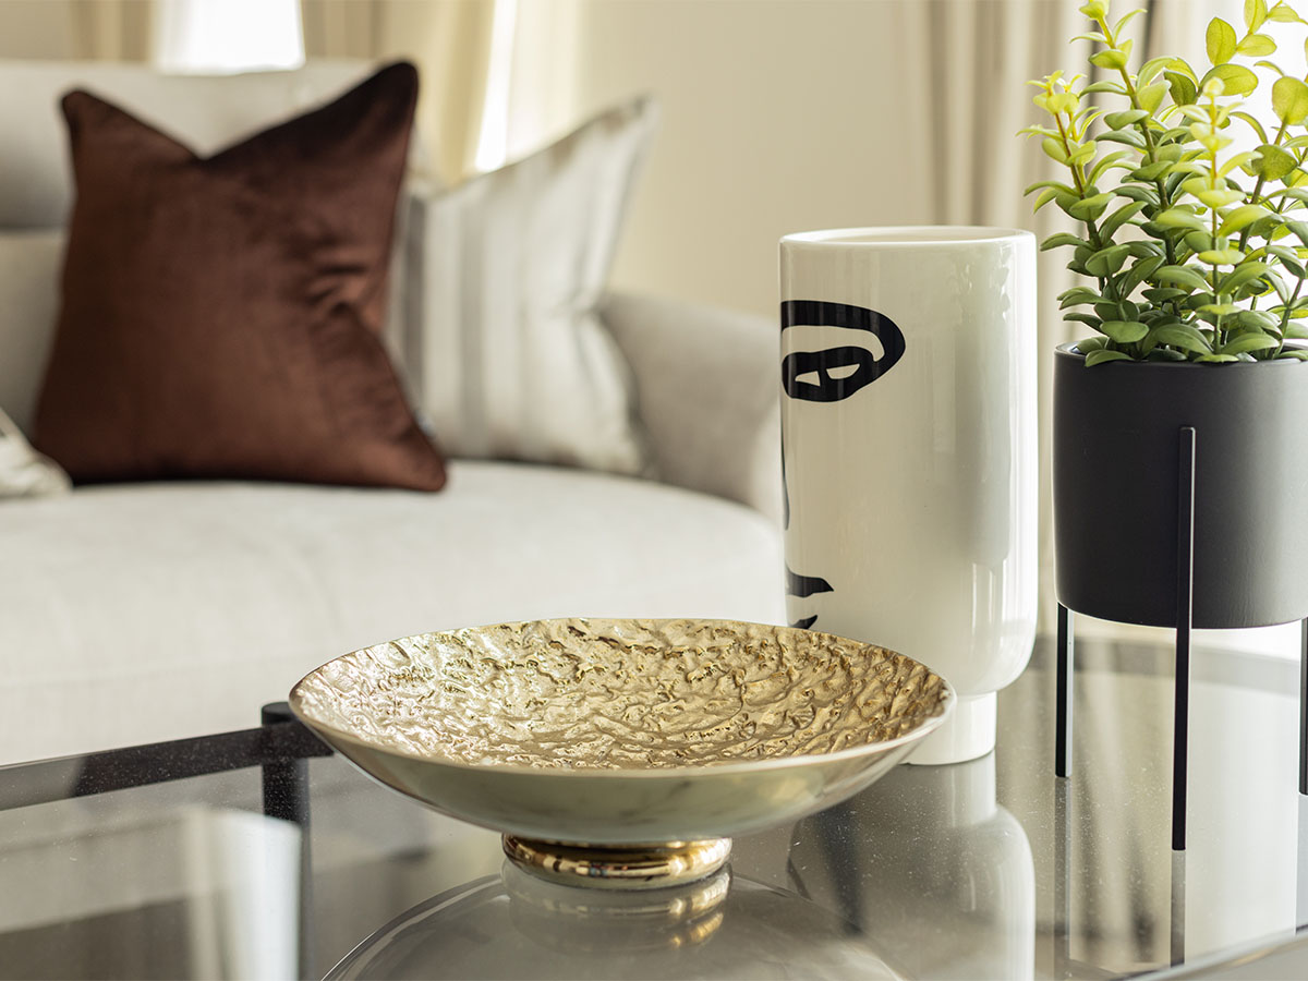
POLYGON ((666 845, 569 845, 504 836, 504 853, 519 869, 549 882, 602 889, 662 889, 718 871, 731 838, 666 845))

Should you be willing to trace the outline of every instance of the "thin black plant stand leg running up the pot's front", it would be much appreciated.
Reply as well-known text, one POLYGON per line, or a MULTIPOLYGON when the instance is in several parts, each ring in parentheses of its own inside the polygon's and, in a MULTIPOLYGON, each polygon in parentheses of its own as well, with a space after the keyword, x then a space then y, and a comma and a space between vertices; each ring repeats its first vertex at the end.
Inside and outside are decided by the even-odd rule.
POLYGON ((1172 736, 1172 849, 1185 850, 1185 782, 1190 735, 1190 625, 1194 620, 1194 426, 1180 429, 1176 530, 1176 713, 1172 736))

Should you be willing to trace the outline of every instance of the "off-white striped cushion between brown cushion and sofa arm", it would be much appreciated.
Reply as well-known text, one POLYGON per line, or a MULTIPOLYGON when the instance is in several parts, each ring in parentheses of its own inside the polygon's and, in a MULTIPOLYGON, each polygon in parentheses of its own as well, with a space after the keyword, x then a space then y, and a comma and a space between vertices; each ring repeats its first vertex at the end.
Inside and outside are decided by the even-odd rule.
POLYGON ((637 99, 451 191, 413 190, 403 361, 447 453, 646 470, 595 305, 654 116, 637 99))

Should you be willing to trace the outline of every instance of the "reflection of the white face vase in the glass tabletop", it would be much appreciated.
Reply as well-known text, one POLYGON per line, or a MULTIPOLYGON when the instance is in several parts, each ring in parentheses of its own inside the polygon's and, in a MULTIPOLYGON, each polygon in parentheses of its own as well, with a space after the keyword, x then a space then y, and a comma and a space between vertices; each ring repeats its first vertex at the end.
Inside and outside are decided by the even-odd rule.
POLYGON ((993 753, 901 766, 875 793, 799 824, 795 887, 863 927, 914 977, 1029 978, 1031 844, 995 789, 993 753))

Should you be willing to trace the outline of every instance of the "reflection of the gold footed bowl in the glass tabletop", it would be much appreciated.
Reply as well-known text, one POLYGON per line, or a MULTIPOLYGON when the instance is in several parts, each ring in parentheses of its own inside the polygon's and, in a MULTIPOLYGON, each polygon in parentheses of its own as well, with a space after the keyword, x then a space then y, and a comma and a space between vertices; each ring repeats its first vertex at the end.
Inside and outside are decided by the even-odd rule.
POLYGON ((327 974, 345 978, 900 977, 838 916, 722 870, 619 892, 506 862, 400 914, 327 974))

